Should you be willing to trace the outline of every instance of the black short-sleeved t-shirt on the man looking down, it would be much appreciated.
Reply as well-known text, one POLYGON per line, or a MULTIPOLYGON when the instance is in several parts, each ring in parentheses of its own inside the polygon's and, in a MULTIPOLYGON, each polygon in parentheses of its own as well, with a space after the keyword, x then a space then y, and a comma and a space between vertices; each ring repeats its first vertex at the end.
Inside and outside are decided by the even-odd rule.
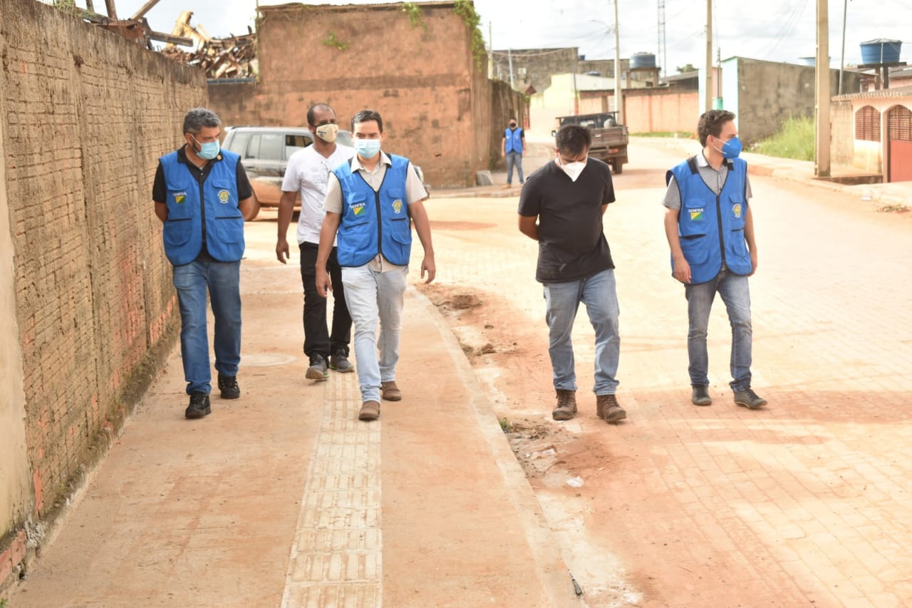
POLYGON ((602 206, 614 202, 611 170, 595 158, 575 182, 554 161, 530 175, 519 215, 538 216, 535 280, 561 283, 614 268, 602 225, 602 206))

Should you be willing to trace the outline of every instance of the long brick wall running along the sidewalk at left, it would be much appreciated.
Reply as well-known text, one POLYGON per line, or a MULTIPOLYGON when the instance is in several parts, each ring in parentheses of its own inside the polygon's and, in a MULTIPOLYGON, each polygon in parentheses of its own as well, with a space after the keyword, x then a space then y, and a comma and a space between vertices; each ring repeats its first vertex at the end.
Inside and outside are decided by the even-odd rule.
POLYGON ((50 519, 173 340, 151 183, 207 98, 198 72, 52 6, 0 0, 0 15, 29 510, 50 519))

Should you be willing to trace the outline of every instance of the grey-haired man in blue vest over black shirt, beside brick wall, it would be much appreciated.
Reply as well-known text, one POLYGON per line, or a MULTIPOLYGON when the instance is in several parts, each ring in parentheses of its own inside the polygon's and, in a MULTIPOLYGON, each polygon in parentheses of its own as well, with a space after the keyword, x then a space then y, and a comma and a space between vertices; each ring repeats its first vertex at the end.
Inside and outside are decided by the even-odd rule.
POLYGON ((152 185, 155 215, 164 224, 165 255, 174 267, 181 309, 181 359, 190 404, 184 415, 212 412, 206 291, 215 317, 215 369, 223 399, 241 389, 241 257, 244 215, 253 194, 241 158, 220 150, 222 121, 205 108, 183 119, 184 144, 159 159, 152 185))

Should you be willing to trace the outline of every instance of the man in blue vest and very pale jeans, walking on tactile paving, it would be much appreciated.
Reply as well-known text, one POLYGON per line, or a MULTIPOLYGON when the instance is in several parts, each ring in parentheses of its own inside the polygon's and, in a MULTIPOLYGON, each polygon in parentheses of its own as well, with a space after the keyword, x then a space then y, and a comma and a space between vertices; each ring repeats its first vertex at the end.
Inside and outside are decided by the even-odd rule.
POLYGON ((326 216, 316 254, 316 290, 332 288, 326 261, 337 239, 337 259, 351 320, 361 389, 359 420, 377 420, 380 398, 399 401, 396 384, 402 296, 409 274, 411 223, 424 248, 421 278, 434 280, 430 221, 422 201, 428 197, 409 159, 380 150, 383 119, 361 110, 351 119, 358 152, 329 176, 326 216), (377 337, 379 320, 380 335, 377 337), (378 356, 379 349, 379 356, 378 356))

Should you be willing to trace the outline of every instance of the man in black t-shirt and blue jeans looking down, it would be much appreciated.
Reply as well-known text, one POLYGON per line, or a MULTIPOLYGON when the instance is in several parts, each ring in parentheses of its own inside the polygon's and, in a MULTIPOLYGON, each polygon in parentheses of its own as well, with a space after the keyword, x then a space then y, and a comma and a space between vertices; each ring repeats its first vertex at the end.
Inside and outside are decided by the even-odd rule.
POLYGON ((596 331, 596 415, 607 423, 627 418, 617 403, 620 356, 617 289, 603 215, 615 202, 611 169, 590 158, 592 136, 585 127, 568 124, 557 131, 557 158, 529 177, 519 199, 519 230, 538 242, 535 279, 544 290, 557 405, 554 420, 576 413, 573 332, 576 311, 586 304, 596 331))

